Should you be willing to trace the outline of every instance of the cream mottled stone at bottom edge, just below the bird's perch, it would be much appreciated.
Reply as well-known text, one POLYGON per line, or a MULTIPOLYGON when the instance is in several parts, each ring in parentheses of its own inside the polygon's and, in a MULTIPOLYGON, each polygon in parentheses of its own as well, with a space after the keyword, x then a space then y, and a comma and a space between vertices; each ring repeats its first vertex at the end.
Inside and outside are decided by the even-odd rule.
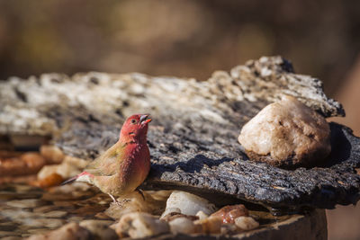
POLYGON ((131 212, 121 217, 119 223, 112 226, 120 237, 141 238, 155 236, 169 231, 165 221, 144 212, 131 212))

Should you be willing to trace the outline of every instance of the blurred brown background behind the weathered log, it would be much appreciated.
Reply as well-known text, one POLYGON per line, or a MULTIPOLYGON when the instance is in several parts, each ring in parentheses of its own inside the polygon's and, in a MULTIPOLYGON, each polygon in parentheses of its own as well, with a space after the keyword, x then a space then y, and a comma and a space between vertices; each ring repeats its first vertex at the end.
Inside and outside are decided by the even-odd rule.
MULTIPOLYGON (((360 135, 360 1, 0 0, 0 79, 141 72, 206 80, 281 55, 342 102, 360 135)), ((358 204, 360 205, 360 204, 358 204)), ((329 239, 360 238, 360 207, 328 211, 329 239)))

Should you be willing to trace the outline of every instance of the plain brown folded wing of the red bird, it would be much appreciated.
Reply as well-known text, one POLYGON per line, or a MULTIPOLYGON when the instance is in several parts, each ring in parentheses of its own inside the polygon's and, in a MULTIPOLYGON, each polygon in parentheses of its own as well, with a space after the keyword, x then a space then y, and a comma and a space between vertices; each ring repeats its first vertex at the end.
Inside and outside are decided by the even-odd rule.
POLYGON ((103 155, 97 157, 93 162, 87 164, 85 172, 95 176, 111 176, 118 171, 121 159, 123 158, 121 143, 116 143, 110 147, 103 155))

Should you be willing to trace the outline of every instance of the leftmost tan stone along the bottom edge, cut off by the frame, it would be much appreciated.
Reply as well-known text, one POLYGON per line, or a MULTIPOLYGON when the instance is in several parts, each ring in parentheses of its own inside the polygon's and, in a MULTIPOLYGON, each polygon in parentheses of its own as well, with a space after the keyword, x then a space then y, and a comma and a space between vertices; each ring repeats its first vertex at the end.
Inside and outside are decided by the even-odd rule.
POLYGON ((44 235, 30 236, 28 240, 85 240, 90 239, 90 237, 89 231, 84 227, 80 227, 77 223, 68 223, 44 235))

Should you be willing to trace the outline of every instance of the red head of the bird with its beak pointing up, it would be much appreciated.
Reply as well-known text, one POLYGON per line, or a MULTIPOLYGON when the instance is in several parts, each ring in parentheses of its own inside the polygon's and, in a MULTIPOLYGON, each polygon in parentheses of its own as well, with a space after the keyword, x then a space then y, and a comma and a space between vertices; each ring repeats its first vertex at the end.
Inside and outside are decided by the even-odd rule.
POLYGON ((125 120, 122 125, 120 138, 126 140, 146 140, 148 123, 151 121, 149 114, 134 114, 125 120))

